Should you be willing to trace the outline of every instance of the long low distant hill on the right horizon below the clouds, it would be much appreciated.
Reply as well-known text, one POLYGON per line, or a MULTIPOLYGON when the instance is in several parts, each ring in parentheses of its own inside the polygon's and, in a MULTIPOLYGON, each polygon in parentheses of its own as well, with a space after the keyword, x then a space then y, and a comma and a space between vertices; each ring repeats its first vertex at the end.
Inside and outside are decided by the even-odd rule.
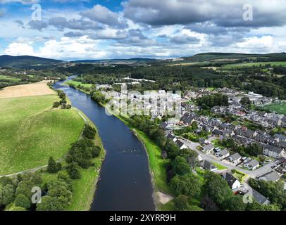
POLYGON ((244 53, 200 53, 190 57, 183 57, 191 63, 216 61, 216 60, 234 60, 243 58, 265 58, 265 60, 286 60, 286 53, 268 53, 268 54, 244 54, 244 53))

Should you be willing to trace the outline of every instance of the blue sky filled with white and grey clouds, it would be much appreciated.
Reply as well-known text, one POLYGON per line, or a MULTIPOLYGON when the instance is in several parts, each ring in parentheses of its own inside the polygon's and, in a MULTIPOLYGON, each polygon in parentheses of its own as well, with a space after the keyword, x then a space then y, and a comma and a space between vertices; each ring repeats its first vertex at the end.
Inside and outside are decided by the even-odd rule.
POLYGON ((286 0, 0 0, 0 55, 60 60, 286 51, 286 0))

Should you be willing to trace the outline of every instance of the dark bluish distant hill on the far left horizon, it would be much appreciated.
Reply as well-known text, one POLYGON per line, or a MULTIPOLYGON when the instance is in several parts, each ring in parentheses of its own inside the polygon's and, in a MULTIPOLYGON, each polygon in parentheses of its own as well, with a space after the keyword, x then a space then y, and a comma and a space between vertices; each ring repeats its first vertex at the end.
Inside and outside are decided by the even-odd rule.
POLYGON ((0 56, 0 67, 2 68, 25 68, 36 65, 52 65, 61 62, 61 60, 35 56, 0 56))

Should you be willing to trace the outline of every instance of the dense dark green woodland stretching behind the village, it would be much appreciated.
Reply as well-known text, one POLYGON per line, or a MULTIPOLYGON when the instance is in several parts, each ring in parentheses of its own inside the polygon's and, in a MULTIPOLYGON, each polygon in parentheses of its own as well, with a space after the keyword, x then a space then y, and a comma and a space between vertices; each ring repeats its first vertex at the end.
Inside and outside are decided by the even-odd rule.
MULTIPOLYGON (((115 84, 125 82, 123 77, 150 79, 156 82, 128 85, 128 89, 144 91, 164 89, 185 91, 191 88, 229 87, 245 91, 254 91, 268 97, 286 98, 286 77, 266 73, 268 66, 233 68, 228 71, 196 68, 193 66, 138 66, 116 65, 99 66, 80 64, 69 68, 57 68, 57 72, 73 72, 79 75, 77 81, 89 84, 115 84)), ((277 74, 285 72, 284 67, 274 67, 277 74)), ((120 90, 120 85, 113 85, 120 90)))

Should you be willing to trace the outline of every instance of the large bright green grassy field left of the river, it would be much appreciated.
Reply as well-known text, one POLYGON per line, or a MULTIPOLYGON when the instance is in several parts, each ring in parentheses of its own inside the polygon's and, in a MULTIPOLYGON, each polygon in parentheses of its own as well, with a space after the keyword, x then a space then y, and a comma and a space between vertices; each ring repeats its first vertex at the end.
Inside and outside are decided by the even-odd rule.
POLYGON ((0 174, 46 165, 66 155, 85 122, 75 110, 52 109, 56 94, 0 99, 0 174))

